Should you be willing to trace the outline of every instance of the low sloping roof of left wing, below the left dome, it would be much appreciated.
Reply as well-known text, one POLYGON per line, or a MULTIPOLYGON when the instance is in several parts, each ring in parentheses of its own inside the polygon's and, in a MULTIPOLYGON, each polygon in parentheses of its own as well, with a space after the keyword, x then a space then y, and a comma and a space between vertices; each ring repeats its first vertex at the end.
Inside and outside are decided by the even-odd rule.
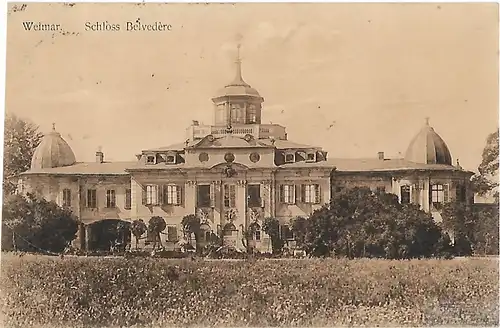
POLYGON ((125 169, 133 165, 136 165, 136 162, 80 162, 63 167, 32 169, 22 174, 128 175, 125 169))

